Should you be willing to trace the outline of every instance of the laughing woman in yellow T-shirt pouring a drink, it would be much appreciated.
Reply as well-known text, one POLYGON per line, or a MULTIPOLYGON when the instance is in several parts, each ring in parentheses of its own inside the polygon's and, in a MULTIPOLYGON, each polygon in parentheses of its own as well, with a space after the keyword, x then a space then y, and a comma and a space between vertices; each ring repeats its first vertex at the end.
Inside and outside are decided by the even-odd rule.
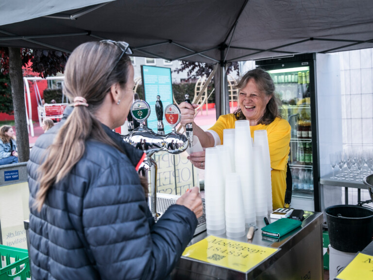
MULTIPOLYGON (((233 114, 220 116, 210 129, 203 131, 194 123, 194 109, 197 105, 183 102, 179 105, 181 124, 185 126, 186 123, 193 123, 193 132, 204 148, 223 144, 223 130, 235 128, 237 120, 250 121, 252 137, 255 130, 267 130, 272 168, 272 207, 284 207, 291 128, 288 121, 279 114, 279 101, 274 94, 271 76, 264 70, 253 69, 239 79, 236 87, 239 90, 238 107, 233 114)), ((188 158, 194 166, 204 169, 204 152, 190 154, 188 158)))

